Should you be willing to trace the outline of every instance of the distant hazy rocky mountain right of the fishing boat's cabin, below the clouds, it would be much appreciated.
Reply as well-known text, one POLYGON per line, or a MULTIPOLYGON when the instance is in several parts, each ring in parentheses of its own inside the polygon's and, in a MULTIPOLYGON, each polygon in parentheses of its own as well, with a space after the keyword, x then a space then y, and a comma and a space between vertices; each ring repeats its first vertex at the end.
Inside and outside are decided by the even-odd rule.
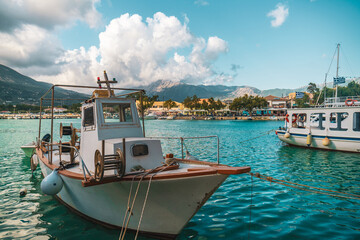
POLYGON ((229 99, 245 94, 259 95, 261 91, 249 86, 224 86, 224 85, 191 85, 169 80, 158 80, 147 86, 142 86, 147 95, 158 95, 159 100, 172 99, 182 102, 187 96, 196 95, 199 98, 229 99))

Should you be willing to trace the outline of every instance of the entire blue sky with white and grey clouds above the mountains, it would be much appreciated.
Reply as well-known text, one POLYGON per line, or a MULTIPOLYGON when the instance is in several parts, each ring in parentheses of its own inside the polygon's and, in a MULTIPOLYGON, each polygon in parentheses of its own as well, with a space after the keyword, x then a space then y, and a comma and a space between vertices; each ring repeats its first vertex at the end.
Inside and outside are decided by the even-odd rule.
POLYGON ((38 81, 321 84, 360 77, 359 0, 0 0, 0 64, 38 81), (336 74, 336 59, 327 81, 336 74))

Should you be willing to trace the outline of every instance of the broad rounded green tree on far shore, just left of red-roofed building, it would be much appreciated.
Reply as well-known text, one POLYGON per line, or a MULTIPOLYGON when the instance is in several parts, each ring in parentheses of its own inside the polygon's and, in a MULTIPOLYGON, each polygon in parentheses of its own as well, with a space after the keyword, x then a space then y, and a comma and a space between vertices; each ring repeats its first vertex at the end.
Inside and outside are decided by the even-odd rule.
POLYGON ((235 98, 230 104, 230 109, 245 109, 251 116, 253 109, 267 107, 267 105, 268 103, 265 98, 259 96, 248 96, 245 94, 243 97, 235 98))

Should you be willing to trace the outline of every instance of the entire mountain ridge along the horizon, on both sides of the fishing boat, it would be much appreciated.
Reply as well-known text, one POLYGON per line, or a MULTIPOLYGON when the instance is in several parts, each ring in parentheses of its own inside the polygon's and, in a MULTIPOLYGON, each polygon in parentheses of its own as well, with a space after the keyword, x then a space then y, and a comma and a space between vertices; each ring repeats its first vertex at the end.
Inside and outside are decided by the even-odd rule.
MULTIPOLYGON (((11 69, 10 67, 0 64, 0 104, 38 104, 40 97, 51 88, 52 84, 46 82, 36 81, 28 76, 11 69)), ((174 82, 170 80, 158 80, 145 86, 138 86, 143 88, 147 95, 158 95, 159 100, 165 101, 172 99, 173 101, 182 102, 186 97, 196 95, 199 98, 215 99, 234 99, 236 97, 247 95, 268 96, 274 95, 282 97, 294 91, 304 91, 306 87, 297 89, 268 89, 260 90, 255 87, 242 86, 225 86, 225 85, 192 85, 184 82, 174 82)), ((56 88, 56 98, 84 98, 88 95, 76 91, 71 91, 62 88, 56 88)), ((49 96, 50 98, 50 96, 49 96)), ((71 103, 71 101, 66 101, 71 103)))

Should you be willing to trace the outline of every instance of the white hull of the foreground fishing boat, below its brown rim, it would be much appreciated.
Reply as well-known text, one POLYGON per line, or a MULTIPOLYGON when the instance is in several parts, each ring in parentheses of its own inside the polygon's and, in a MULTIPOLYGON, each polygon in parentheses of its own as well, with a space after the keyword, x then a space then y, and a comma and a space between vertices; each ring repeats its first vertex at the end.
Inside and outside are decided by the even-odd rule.
MULTIPOLYGON (((52 172, 40 161, 44 176, 52 172)), ((83 187, 81 179, 61 175, 64 186, 57 194, 61 202, 81 215, 104 225, 121 228, 139 181, 119 181, 83 187)), ((192 216, 220 187, 228 175, 212 174, 186 178, 153 180, 150 185, 139 231, 154 236, 173 238, 192 216)), ((138 178, 139 179, 139 178, 138 178)), ((140 183, 128 229, 137 230, 149 180, 140 183)))

